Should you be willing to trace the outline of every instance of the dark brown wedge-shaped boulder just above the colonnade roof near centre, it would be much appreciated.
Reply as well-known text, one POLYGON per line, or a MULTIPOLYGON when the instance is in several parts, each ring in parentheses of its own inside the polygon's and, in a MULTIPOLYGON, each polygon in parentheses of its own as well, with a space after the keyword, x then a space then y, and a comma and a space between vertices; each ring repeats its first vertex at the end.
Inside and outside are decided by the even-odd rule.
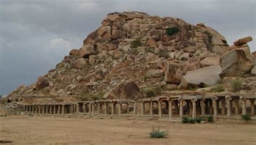
POLYGON ((137 99, 139 87, 134 81, 122 81, 103 96, 105 99, 137 99))

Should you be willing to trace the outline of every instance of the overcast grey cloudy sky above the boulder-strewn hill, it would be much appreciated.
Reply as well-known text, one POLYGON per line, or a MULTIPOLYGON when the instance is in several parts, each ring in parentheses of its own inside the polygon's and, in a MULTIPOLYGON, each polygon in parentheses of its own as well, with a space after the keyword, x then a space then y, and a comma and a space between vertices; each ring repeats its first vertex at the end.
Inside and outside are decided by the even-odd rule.
MULTIPOLYGON (((0 0, 0 94, 30 85, 100 26, 106 13, 143 11, 205 23, 228 43, 256 39, 255 0, 0 0)), ((256 50, 256 40, 250 42, 256 50)))

